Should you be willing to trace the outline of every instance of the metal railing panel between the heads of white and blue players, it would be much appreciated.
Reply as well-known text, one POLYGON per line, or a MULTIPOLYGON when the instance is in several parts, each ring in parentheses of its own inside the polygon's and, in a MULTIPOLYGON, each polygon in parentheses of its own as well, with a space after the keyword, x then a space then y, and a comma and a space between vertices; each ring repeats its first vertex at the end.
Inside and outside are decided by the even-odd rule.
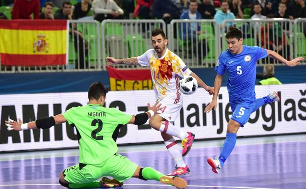
POLYGON ((213 67, 220 54, 218 31, 215 20, 172 20, 169 49, 189 67, 213 67))

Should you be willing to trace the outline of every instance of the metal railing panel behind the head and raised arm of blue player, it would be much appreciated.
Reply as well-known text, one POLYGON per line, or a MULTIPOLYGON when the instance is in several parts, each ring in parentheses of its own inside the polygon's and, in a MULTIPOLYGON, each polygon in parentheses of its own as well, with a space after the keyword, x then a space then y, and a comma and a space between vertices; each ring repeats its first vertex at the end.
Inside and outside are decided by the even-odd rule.
MULTIPOLYGON (((243 44, 259 46, 277 52, 286 59, 292 59, 292 22, 289 19, 234 19, 225 20, 222 23, 222 33, 226 33, 228 26, 235 26, 243 33, 243 44)), ((227 42, 222 35, 222 50, 225 51, 227 42)), ((277 63, 272 58, 261 59, 258 65, 265 63, 277 63)))

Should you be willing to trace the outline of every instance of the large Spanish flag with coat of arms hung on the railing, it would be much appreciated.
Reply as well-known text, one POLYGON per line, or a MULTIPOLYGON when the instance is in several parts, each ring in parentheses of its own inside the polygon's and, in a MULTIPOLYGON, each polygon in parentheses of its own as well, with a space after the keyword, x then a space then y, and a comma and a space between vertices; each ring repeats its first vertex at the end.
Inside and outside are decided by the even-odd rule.
POLYGON ((69 36, 67 28, 67 20, 0 20, 1 64, 66 64, 69 36))

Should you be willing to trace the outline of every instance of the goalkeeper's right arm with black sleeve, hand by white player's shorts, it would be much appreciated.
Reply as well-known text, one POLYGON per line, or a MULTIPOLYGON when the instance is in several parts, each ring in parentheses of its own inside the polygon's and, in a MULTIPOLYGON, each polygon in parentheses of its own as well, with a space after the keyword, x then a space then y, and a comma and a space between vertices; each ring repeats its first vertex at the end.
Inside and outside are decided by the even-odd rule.
MULTIPOLYGON (((145 113, 137 114, 136 116, 133 115, 128 123, 138 125, 137 123, 139 122, 139 118, 140 118, 140 119, 142 119, 142 122, 144 122, 143 124, 145 124, 148 119, 153 117, 154 114, 158 114, 157 111, 161 109, 160 107, 161 107, 161 104, 159 104, 159 102, 156 102, 152 107, 151 107, 150 103, 148 103, 148 111, 145 112, 145 113), (138 119, 138 120, 135 122, 136 119, 138 119)), ((143 125, 143 124, 139 124, 139 125, 143 125)))

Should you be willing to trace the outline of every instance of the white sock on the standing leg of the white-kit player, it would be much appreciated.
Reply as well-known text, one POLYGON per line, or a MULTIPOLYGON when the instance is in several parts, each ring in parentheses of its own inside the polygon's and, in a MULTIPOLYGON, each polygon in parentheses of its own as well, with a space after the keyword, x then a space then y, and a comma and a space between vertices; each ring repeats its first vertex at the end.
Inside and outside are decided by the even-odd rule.
POLYGON ((177 164, 177 166, 178 167, 185 167, 186 164, 183 161, 181 152, 179 151, 177 141, 174 138, 171 138, 170 140, 165 141, 165 145, 166 145, 166 148, 167 148, 170 156, 173 158, 173 160, 177 164))

